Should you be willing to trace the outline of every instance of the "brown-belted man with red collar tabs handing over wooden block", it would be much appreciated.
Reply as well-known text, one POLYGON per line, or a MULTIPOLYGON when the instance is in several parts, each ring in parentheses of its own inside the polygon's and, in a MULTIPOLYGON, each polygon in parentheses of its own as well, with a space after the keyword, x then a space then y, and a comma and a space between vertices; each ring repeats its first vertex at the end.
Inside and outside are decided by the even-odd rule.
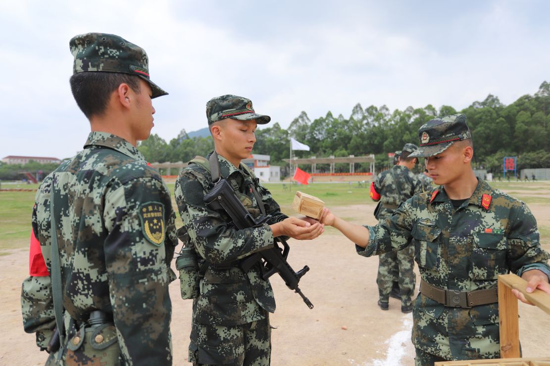
POLYGON ((497 275, 511 271, 528 281, 527 291, 550 293, 550 256, 525 203, 476 179, 464 114, 428 121, 419 137, 410 156, 426 157, 439 187, 401 203, 376 226, 347 223, 327 209, 321 222, 342 231, 365 257, 412 243, 421 275, 412 329, 417 365, 498 358, 497 275))

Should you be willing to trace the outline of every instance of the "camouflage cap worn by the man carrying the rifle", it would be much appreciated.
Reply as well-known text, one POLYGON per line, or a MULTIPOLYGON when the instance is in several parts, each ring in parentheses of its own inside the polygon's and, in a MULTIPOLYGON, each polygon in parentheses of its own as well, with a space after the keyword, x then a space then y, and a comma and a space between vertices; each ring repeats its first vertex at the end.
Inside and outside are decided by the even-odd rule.
POLYGON ((230 94, 210 99, 206 103, 206 118, 208 119, 208 125, 224 118, 244 121, 255 119, 256 123, 260 125, 265 125, 271 121, 271 117, 268 115, 254 112, 250 99, 230 94))

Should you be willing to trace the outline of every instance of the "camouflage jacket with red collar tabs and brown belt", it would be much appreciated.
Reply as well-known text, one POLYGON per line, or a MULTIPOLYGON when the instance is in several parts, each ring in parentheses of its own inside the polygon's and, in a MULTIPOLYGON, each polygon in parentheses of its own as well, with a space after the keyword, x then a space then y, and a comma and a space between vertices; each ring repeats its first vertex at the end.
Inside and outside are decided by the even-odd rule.
MULTIPOLYGON (((370 227, 361 256, 401 249, 412 237, 420 275, 441 289, 497 286, 497 275, 530 269, 550 275, 535 218, 525 203, 478 181, 458 209, 442 187, 404 202, 383 224, 370 227), (483 195, 490 195, 487 204, 483 195), (485 206, 484 206, 485 205, 485 206)), ((412 343, 444 359, 499 356, 498 303, 450 308, 420 294, 414 303, 412 343)))

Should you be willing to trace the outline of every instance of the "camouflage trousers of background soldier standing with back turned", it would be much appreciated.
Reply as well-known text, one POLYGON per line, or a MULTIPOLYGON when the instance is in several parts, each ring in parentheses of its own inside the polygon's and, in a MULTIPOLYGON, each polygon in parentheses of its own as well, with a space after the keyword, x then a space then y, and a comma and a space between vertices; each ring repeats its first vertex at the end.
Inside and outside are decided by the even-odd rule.
POLYGON ((409 306, 416 286, 414 274, 414 246, 409 245, 399 252, 380 254, 378 257, 378 296, 381 302, 388 302, 392 283, 399 282, 401 305, 409 306), (395 273, 398 273, 397 278, 395 273))

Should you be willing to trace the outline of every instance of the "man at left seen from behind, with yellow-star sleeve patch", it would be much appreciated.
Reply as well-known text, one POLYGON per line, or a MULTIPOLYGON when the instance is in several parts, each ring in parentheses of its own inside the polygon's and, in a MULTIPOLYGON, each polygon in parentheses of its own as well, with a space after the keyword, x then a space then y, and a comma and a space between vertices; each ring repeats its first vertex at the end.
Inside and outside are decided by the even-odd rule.
POLYGON ((175 215, 160 174, 136 149, 153 126, 151 99, 167 93, 149 79, 144 49, 123 38, 92 33, 69 44, 73 96, 92 132, 36 193, 41 254, 31 268, 46 268, 23 282, 24 328, 44 350, 55 309, 64 309, 64 342, 47 364, 169 365, 175 215))

